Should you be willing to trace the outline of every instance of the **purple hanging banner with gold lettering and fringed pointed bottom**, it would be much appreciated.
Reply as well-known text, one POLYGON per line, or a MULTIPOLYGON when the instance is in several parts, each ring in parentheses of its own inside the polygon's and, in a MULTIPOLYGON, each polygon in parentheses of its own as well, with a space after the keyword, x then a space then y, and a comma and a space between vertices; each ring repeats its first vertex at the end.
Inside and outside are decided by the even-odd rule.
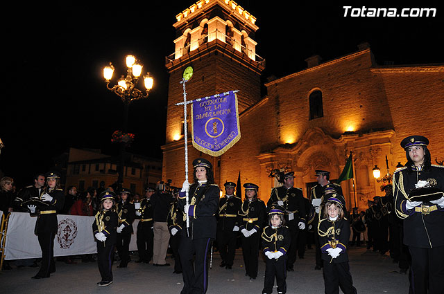
POLYGON ((197 99, 191 107, 194 148, 221 156, 241 138, 233 91, 197 99))

